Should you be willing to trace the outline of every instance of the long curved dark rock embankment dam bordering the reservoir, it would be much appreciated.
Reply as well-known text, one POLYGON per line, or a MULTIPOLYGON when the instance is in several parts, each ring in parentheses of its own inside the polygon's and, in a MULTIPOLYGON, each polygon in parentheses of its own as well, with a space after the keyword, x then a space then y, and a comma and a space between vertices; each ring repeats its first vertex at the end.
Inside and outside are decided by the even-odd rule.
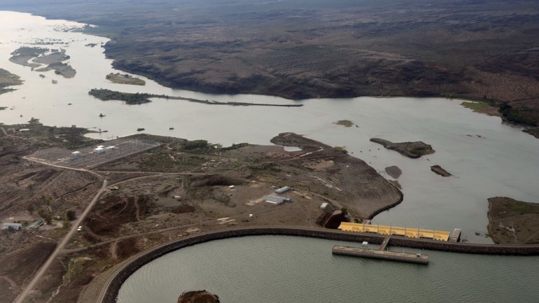
MULTIPOLYGON (((231 230, 207 232, 195 236, 172 241, 148 251, 143 251, 127 260, 106 279, 101 287, 96 303, 116 303, 118 293, 123 283, 139 268, 147 263, 171 253, 173 251, 202 244, 208 241, 228 239, 235 237, 280 235, 293 237, 311 237, 333 241, 368 241, 372 244, 381 244, 386 236, 378 234, 361 234, 342 232, 338 230, 322 230, 307 227, 239 227, 231 230)), ((498 244, 470 244, 461 242, 441 242, 427 239, 409 239, 398 236, 391 237, 392 246, 407 248, 421 248, 431 251, 445 251, 450 253, 470 253, 484 255, 539 255, 539 244, 531 245, 498 245, 498 244)), ((330 253, 328 251, 328 253, 330 253)))

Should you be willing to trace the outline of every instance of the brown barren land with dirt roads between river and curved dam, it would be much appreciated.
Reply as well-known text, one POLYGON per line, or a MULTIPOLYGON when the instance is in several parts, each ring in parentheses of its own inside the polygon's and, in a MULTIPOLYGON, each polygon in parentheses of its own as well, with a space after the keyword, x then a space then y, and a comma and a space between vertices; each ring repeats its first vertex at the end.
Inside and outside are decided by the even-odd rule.
POLYGON ((235 226, 319 227, 333 209, 346 208, 353 218, 366 219, 402 198, 365 162, 292 133, 272 141, 302 150, 247 143, 222 148, 203 140, 139 134, 125 140, 154 142, 155 147, 133 154, 125 141, 110 141, 118 148, 109 153, 125 149, 125 157, 84 155, 97 163, 90 171, 70 164, 80 159, 54 156, 69 155, 65 148, 86 150, 101 143, 80 136, 84 129, 45 127, 34 120, 0 130, 0 194, 6 197, 0 219, 25 225, 50 221, 35 230, 0 233, 0 258, 8 260, 0 264, 5 302, 25 288, 62 239, 70 225, 66 211, 82 213, 103 178, 109 190, 28 302, 91 302, 103 281, 100 274, 135 253, 189 234, 235 226), (291 202, 262 201, 285 185, 293 188, 282 195, 291 202), (332 207, 321 210, 323 202, 332 207))

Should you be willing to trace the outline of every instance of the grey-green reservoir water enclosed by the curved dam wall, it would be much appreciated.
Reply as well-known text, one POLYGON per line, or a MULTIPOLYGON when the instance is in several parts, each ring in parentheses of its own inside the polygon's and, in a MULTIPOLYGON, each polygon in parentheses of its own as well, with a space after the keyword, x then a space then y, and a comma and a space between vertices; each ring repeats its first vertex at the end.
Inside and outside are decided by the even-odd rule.
POLYGON ((360 246, 254 236, 182 248, 130 276, 118 302, 174 303, 189 290, 208 290, 224 303, 517 303, 537 293, 539 257, 423 251, 430 259, 423 266, 332 255, 333 245, 360 246))

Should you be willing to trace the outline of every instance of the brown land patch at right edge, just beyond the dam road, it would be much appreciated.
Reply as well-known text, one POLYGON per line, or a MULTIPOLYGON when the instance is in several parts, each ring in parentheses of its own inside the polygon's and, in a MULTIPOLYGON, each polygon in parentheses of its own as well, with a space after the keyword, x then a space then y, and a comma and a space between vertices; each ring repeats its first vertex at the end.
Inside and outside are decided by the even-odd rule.
POLYGON ((488 230, 496 244, 539 244, 539 204, 489 198, 488 230))

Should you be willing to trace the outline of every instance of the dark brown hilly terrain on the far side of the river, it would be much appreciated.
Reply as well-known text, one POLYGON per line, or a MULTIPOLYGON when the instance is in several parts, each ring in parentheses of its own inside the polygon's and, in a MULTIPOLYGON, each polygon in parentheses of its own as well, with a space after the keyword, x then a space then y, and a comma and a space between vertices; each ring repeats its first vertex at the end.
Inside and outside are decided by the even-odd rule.
POLYGON ((98 24, 113 65, 171 87, 313 97, 441 96, 539 121, 539 2, 21 0, 98 24))

